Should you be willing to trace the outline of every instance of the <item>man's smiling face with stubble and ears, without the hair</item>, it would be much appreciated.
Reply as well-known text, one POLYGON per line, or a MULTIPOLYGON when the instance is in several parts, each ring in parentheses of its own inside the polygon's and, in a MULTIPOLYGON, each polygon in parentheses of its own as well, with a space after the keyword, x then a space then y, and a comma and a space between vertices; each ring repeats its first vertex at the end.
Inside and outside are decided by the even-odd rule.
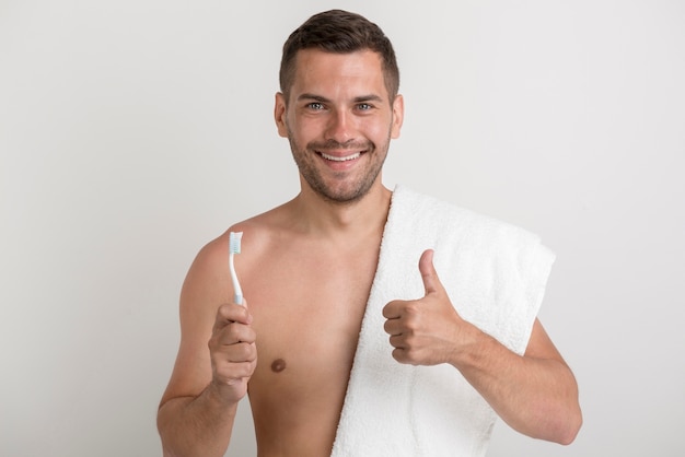
POLYGON ((376 52, 305 49, 295 57, 289 99, 276 96, 275 116, 302 185, 329 201, 351 202, 381 185, 403 109, 402 96, 388 99, 376 52))

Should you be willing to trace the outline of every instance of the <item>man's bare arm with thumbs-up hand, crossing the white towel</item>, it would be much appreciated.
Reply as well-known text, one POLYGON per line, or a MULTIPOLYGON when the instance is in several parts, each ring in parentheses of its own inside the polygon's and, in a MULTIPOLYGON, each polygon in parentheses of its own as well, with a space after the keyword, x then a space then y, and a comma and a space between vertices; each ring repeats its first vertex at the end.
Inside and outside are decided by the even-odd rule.
POLYGON ((393 358, 413 365, 449 363, 511 427, 570 444, 582 423, 578 385, 541 323, 535 320, 519 355, 458 315, 438 278, 432 250, 421 256, 419 271, 426 295, 383 309, 393 358))

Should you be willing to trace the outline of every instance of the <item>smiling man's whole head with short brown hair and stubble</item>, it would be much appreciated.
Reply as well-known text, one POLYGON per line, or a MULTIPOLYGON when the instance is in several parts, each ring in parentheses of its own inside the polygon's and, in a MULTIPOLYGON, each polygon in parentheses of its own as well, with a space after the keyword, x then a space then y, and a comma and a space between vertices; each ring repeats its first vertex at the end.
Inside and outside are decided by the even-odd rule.
POLYGON ((390 141, 403 120, 397 84, 390 40, 357 14, 321 13, 290 36, 274 117, 303 191, 351 203, 381 190, 390 141))

